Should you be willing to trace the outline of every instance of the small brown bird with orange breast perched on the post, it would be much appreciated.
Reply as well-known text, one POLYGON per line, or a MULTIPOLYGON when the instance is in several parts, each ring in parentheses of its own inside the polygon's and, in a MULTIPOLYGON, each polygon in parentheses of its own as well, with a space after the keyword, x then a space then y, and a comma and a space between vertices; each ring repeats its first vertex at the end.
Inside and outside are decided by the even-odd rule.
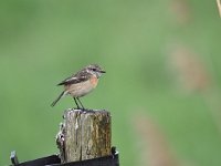
POLYGON ((74 98, 77 108, 84 110, 80 97, 91 93, 97 86, 98 80, 103 73, 106 72, 98 64, 90 64, 72 76, 63 80, 57 85, 63 85, 64 91, 51 104, 51 106, 54 106, 62 97, 71 95, 74 98))

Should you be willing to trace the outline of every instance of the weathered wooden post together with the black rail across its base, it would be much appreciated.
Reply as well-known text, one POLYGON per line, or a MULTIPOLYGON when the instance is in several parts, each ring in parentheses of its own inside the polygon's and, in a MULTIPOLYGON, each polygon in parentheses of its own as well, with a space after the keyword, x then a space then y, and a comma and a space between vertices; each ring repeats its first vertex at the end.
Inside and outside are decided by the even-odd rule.
POLYGON ((13 166, 119 166, 118 153, 112 147, 112 118, 107 111, 74 110, 64 113, 56 135, 59 155, 19 163, 13 166))

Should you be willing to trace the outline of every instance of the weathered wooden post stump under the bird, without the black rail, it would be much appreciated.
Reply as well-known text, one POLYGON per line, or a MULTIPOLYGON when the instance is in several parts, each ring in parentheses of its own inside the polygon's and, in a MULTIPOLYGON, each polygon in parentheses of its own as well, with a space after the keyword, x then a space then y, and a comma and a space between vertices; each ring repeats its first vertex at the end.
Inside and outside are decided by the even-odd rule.
POLYGON ((112 154, 110 114, 107 111, 67 110, 56 136, 62 163, 112 154))

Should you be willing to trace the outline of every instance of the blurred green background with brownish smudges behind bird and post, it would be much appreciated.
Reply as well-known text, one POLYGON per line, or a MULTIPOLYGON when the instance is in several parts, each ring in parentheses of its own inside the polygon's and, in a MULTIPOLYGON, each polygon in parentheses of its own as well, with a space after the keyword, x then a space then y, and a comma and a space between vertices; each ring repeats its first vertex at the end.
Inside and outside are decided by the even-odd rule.
POLYGON ((1 1, 0 165, 57 153, 55 85, 97 63, 82 102, 112 112, 120 166, 220 166, 220 28, 215 0, 1 1))

